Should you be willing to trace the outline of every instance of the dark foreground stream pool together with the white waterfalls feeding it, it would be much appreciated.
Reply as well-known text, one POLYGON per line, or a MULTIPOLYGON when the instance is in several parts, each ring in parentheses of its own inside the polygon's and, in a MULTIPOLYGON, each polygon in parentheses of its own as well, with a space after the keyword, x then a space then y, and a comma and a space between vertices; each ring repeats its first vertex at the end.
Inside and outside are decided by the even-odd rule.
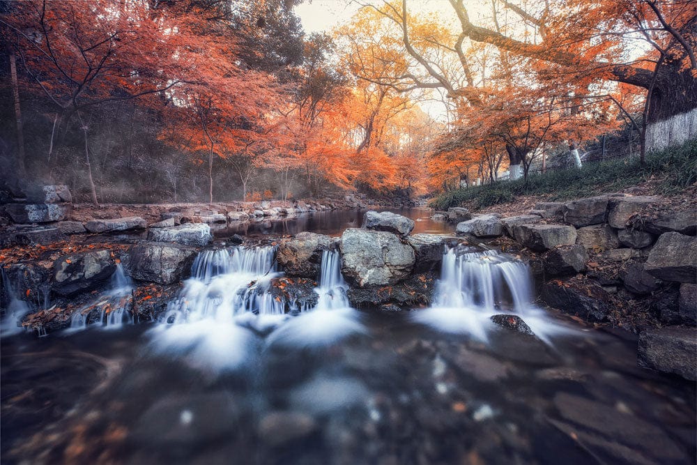
POLYGON ((116 316, 131 289, 120 273, 99 296, 99 321, 119 330, 3 335, 3 463, 697 458, 694 383, 637 367, 628 333, 536 307, 513 257, 445 250, 433 305, 385 315, 351 308, 337 251, 323 254, 314 307, 275 298, 274 255, 201 252, 157 323, 116 316), (493 325, 501 313, 537 337, 493 325))

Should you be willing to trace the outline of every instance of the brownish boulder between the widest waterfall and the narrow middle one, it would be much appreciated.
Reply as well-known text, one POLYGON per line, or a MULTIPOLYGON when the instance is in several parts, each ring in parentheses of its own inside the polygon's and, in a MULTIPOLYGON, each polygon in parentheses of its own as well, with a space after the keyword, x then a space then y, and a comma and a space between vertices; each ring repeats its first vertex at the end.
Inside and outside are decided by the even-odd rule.
POLYGON ((322 254, 325 250, 329 250, 331 245, 332 239, 329 236, 301 232, 278 246, 276 252, 278 264, 286 275, 314 279, 319 276, 322 254))

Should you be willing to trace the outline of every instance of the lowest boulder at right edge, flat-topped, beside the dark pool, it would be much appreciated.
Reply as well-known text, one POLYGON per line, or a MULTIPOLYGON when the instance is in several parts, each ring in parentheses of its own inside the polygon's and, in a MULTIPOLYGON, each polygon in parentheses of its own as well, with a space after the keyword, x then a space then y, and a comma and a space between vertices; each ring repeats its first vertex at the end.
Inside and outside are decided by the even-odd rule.
POLYGON ((639 335, 638 363, 697 381, 697 330, 659 328, 639 335))

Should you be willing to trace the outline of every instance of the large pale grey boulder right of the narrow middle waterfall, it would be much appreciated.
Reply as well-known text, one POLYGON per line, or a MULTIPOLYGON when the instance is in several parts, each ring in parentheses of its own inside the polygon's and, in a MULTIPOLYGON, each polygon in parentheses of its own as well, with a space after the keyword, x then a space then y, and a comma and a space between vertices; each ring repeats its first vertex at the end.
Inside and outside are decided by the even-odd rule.
POLYGON ((411 273, 416 261, 411 245, 385 231, 346 229, 341 251, 342 273, 358 287, 395 284, 411 273))

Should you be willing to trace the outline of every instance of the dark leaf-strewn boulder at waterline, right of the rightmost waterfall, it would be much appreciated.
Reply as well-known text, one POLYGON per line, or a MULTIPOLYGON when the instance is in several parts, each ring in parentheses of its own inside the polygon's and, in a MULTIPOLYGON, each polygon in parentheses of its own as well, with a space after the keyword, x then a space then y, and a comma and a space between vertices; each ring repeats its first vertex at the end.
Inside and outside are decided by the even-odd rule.
POLYGON ((610 294, 588 280, 546 282, 540 297, 550 307, 591 322, 608 321, 611 310, 610 294))

